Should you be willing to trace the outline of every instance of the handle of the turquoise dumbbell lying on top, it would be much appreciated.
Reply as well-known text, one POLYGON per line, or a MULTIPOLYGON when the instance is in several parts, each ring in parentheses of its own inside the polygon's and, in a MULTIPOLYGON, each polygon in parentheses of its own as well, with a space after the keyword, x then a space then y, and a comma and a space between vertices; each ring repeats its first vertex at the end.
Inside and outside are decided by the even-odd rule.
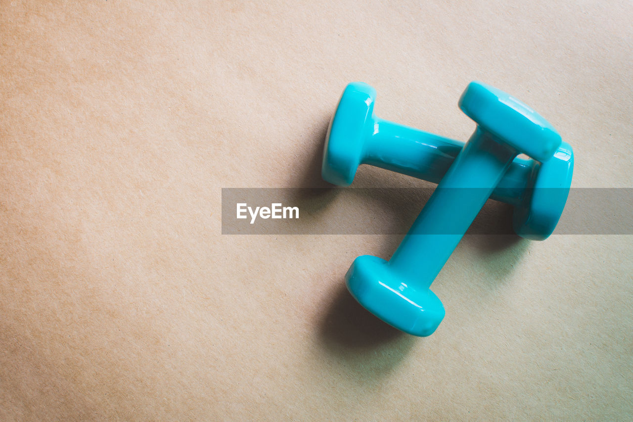
POLYGON ((429 288, 517 154, 477 128, 389 260, 392 269, 416 290, 429 288))

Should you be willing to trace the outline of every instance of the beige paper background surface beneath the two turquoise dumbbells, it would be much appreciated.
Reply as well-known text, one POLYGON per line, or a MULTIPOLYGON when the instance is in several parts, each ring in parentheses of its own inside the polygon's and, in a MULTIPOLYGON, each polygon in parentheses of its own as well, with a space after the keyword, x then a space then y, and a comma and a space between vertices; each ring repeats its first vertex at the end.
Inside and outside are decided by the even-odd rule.
POLYGON ((380 117, 463 140, 457 100, 483 80, 573 145, 573 186, 633 187, 632 18, 630 1, 0 1, 0 419, 633 418, 630 236, 467 236, 421 339, 343 286, 400 236, 220 234, 221 188, 325 186, 352 80, 380 117))

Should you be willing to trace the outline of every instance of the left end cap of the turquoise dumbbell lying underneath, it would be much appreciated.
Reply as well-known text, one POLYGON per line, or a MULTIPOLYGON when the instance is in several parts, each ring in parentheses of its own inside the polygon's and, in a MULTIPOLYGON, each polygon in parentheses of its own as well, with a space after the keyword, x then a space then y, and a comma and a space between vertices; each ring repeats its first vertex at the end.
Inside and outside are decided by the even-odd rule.
POLYGON ((325 181, 349 186, 354 180, 375 98, 376 90, 363 82, 352 82, 344 89, 325 136, 321 166, 325 181))

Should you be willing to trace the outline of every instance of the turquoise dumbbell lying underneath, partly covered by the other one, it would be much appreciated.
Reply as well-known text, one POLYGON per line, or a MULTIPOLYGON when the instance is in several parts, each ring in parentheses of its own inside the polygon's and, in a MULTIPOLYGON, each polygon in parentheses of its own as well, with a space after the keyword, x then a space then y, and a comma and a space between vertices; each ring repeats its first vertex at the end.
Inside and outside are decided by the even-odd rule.
MULTIPOLYGON (((323 179, 348 186, 364 163, 439 183, 464 144, 375 117, 375 98, 375 89, 362 82, 343 91, 327 132, 323 179)), ((515 158, 491 198, 515 207, 515 233, 544 240, 563 212, 572 174, 572 147, 561 143, 544 163, 515 158)))

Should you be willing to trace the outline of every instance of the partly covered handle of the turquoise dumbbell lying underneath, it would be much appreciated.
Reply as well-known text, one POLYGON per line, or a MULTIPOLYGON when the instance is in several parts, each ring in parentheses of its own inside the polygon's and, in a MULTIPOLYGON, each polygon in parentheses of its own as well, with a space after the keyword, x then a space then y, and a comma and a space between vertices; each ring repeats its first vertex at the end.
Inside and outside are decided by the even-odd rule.
MULTIPOLYGON (((370 129, 362 163, 433 183, 442 180, 464 146, 463 142, 382 118, 373 118, 370 129)), ((515 158, 491 198, 520 205, 534 164, 534 160, 515 158)))

